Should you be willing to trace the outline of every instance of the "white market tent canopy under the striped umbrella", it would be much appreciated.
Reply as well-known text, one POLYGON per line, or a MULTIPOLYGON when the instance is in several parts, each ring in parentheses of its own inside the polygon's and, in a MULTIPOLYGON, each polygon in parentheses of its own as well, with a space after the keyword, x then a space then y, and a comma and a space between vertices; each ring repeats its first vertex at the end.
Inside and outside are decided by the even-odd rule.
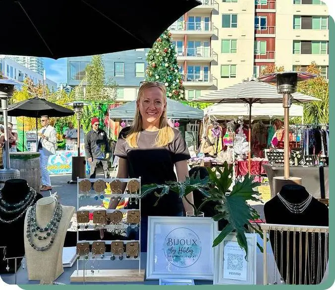
MULTIPOLYGON (((272 119, 284 116, 282 104, 260 104, 252 105, 252 119, 272 119)), ((204 109, 205 116, 215 116, 218 120, 234 119, 238 116, 249 116, 248 104, 214 104, 204 109)), ((292 104, 289 109, 291 117, 303 117, 303 107, 292 104)))

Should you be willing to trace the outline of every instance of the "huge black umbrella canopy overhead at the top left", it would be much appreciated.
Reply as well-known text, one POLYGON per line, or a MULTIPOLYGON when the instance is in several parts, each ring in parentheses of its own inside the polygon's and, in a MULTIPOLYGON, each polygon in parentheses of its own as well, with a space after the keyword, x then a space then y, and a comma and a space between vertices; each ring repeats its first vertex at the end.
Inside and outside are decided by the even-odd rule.
POLYGON ((197 0, 0 0, 0 54, 77 57, 150 48, 197 0), (15 21, 13 21, 15 19, 15 21), (13 31, 22 31, 15 37, 13 31), (22 45, 26 43, 29 45, 22 45))

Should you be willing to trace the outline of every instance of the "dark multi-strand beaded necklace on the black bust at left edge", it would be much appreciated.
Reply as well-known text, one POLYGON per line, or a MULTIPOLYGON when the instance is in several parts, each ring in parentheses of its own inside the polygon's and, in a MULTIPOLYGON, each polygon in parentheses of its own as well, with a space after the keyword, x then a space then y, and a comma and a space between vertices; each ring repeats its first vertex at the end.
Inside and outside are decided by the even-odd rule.
MULTIPOLYGON (((0 212, 5 213, 5 214, 14 214, 14 213, 18 213, 20 211, 22 211, 17 217, 11 218, 11 219, 4 219, 2 217, 0 217, 0 222, 4 222, 4 223, 12 223, 16 220, 18 220, 19 218, 21 218, 27 211, 27 209, 34 203, 35 199, 37 196, 37 192, 30 187, 29 188, 29 193, 27 194, 27 196, 25 197, 23 204, 20 205, 20 203, 17 204, 9 204, 7 202, 4 202, 3 200, 1 200, 1 204, 4 205, 4 207, 0 206, 0 212), (28 198, 28 200, 27 200, 28 198), (10 206, 9 206, 10 205, 10 206), (14 208, 15 205, 19 205, 19 208, 16 209, 9 209, 9 208, 14 208), (7 209, 8 206, 8 209, 7 209)), ((2 193, 0 191, 0 199, 2 199, 2 193)))

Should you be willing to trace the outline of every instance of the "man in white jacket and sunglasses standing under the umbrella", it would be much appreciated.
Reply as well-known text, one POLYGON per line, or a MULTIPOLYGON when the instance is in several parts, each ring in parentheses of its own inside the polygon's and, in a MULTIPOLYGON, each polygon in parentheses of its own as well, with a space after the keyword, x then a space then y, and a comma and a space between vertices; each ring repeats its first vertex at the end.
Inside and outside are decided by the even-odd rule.
POLYGON ((40 152, 40 170, 42 176, 41 191, 51 190, 50 175, 48 172, 48 159, 56 154, 56 129, 49 125, 49 117, 41 117, 42 129, 38 132, 37 151, 40 152))

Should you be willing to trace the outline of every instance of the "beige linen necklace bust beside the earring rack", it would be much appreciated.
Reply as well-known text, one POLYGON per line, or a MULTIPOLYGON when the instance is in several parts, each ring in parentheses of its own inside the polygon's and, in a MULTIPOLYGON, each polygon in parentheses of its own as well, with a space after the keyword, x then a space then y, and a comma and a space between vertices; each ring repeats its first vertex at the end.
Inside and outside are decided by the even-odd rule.
MULTIPOLYGON (((36 203, 36 209, 31 210, 30 207, 24 222, 24 247, 27 259, 28 279, 39 280, 41 284, 52 284, 63 273, 63 244, 75 208, 59 205, 54 197, 45 197, 36 203), (57 227, 56 232, 52 231, 55 233, 53 243, 45 250, 36 250, 37 247, 41 249, 50 243, 52 236, 48 237, 49 239, 39 239, 37 236, 34 236, 35 232, 27 233, 27 228, 32 227, 30 223, 28 226, 30 215, 32 213, 36 215, 36 224, 43 229, 53 219, 53 215, 57 212, 57 207, 60 207, 61 217, 56 220, 57 225, 53 228, 57 227), (31 242, 28 240, 29 238, 32 239, 31 242)), ((46 235, 45 231, 37 232, 38 235, 46 235)))

